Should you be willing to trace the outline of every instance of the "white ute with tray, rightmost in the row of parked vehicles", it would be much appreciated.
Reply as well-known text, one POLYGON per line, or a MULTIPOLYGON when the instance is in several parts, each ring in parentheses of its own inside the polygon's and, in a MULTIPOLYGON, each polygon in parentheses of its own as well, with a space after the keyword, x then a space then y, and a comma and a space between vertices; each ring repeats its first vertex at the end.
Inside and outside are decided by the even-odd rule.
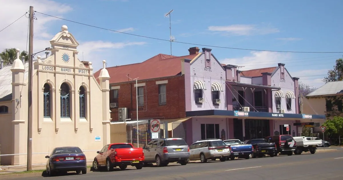
POLYGON ((318 146, 322 145, 321 140, 307 140, 305 136, 296 136, 293 139, 297 143, 297 148, 294 151, 294 154, 301 154, 302 152, 311 152, 311 154, 315 154, 316 149, 318 146))

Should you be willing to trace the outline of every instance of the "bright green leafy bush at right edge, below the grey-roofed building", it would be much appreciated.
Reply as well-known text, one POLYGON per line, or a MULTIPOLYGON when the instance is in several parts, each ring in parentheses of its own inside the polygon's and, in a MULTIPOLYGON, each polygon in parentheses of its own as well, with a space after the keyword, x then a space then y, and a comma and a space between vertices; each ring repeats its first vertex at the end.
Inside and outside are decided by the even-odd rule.
POLYGON ((343 135, 343 117, 335 116, 324 122, 322 126, 326 126, 325 132, 327 132, 329 136, 338 136, 339 145, 341 145, 341 136, 343 135))

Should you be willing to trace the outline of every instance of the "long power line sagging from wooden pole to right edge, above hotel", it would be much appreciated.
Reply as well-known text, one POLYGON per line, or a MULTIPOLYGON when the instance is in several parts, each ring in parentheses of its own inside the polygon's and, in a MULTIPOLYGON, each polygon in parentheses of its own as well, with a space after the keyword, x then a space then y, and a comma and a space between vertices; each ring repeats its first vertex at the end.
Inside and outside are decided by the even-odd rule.
MULTIPOLYGON (((107 28, 98 27, 98 26, 93 26, 93 25, 89 25, 89 24, 85 24, 85 23, 80 23, 80 22, 76 22, 76 21, 72 21, 72 20, 67 20, 67 19, 64 19, 64 18, 61 18, 61 17, 57 17, 57 16, 45 14, 45 13, 38 12, 38 11, 35 11, 35 12, 37 12, 37 13, 39 13, 39 14, 46 15, 46 16, 55 17, 55 18, 60 19, 60 20, 69 21, 69 22, 73 22, 73 23, 76 23, 76 24, 81 24, 81 25, 85 25, 85 26, 90 26, 90 27, 94 27, 94 28, 98 28, 98 29, 107 30, 107 31, 112 31, 112 32, 127 34, 127 35, 131 35, 131 36, 138 36, 138 37, 144 37, 144 38, 149 38, 149 39, 155 39, 155 40, 162 40, 162 41, 168 41, 168 42, 170 42, 170 40, 168 40, 168 39, 161 39, 161 38, 155 38, 155 37, 142 36, 142 35, 137 35, 137 34, 131 34, 131 33, 125 33, 125 32, 115 31, 115 30, 112 30, 112 29, 107 29, 107 28)), ((180 44, 204 46, 204 47, 215 47, 215 48, 237 49, 237 50, 249 50, 249 51, 292 52, 292 53, 343 53, 343 52, 317 52, 317 51, 313 51, 313 52, 311 52, 311 51, 276 51, 276 50, 261 50, 261 49, 246 49, 246 48, 232 48, 232 47, 223 47, 223 46, 211 46, 211 45, 203 45, 203 44, 195 44, 195 43, 186 43, 186 42, 175 41, 175 40, 174 40, 173 42, 175 42, 175 43, 180 43, 180 44)))

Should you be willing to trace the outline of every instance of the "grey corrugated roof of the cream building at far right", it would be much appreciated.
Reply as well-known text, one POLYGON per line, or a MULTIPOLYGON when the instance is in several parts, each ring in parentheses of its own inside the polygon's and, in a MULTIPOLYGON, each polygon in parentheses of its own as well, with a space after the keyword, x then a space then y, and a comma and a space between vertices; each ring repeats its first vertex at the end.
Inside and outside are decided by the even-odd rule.
POLYGON ((328 82, 319 87, 316 91, 308 94, 306 97, 332 94, 343 94, 343 81, 328 82))

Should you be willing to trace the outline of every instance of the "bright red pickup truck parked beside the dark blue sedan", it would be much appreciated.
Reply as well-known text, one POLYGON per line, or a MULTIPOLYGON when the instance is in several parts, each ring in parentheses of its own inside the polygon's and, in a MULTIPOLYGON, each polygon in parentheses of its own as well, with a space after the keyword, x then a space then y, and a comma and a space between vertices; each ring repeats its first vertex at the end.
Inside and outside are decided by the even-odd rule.
POLYGON ((144 164, 143 148, 134 148, 130 143, 107 144, 96 153, 98 155, 93 161, 94 170, 103 166, 106 166, 107 171, 112 171, 117 166, 124 170, 128 165, 142 169, 144 164))

